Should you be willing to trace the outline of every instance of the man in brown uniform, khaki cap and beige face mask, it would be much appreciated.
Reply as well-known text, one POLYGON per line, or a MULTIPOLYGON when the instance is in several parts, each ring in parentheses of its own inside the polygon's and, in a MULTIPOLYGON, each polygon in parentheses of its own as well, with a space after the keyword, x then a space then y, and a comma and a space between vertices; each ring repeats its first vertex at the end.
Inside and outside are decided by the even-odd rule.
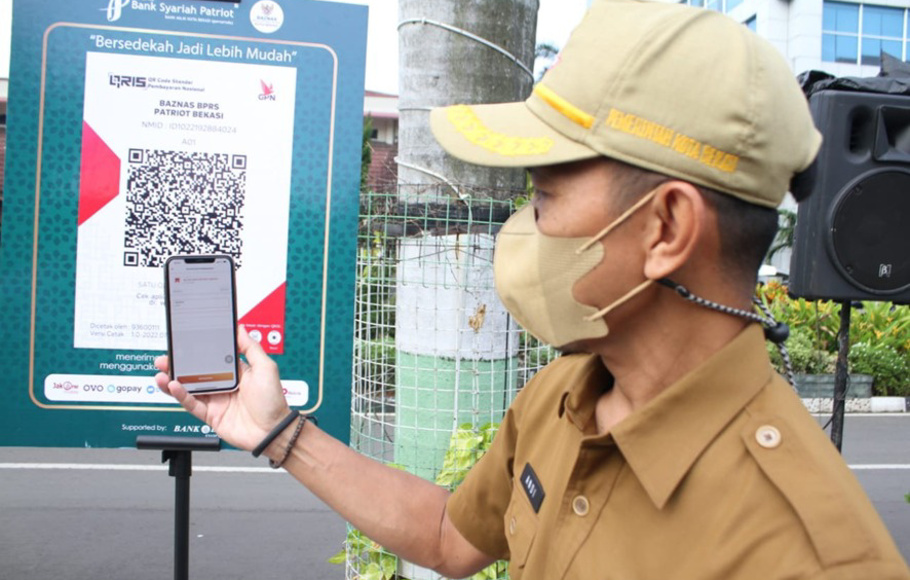
POLYGON ((453 495, 289 413, 245 332, 236 392, 193 397, 163 373, 161 388, 452 577, 508 558, 526 580, 910 578, 751 312, 774 208, 820 143, 773 47, 714 12, 603 0, 527 102, 431 120, 458 157, 531 168, 497 290, 569 353, 453 495))

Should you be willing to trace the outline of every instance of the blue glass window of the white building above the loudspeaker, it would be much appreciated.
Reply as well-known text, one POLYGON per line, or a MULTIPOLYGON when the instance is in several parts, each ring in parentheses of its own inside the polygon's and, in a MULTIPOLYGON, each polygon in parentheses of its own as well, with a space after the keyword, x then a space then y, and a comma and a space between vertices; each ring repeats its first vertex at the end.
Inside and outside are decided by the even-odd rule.
POLYGON ((883 51, 905 59, 906 17, 902 8, 826 1, 822 60, 878 66, 883 51))

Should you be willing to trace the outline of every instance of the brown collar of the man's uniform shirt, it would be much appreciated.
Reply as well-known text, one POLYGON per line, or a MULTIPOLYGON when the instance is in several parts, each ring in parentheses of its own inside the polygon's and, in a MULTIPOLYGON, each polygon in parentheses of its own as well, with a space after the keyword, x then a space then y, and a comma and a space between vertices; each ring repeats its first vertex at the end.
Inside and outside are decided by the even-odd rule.
MULTIPOLYGON (((612 383, 599 357, 591 359, 579 369, 579 380, 570 381, 560 408, 560 415, 565 412, 581 430, 593 418, 604 385, 612 383)), ((658 509, 773 372, 762 328, 751 324, 612 429, 613 440, 658 509)))

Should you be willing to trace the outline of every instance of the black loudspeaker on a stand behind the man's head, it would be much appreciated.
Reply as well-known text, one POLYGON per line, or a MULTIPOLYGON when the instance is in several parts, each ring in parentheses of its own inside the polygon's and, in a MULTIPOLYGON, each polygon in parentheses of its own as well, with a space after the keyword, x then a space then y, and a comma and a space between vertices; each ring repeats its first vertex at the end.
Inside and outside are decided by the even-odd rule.
POLYGON ((910 96, 821 91, 824 143, 799 204, 790 294, 910 303, 910 96))

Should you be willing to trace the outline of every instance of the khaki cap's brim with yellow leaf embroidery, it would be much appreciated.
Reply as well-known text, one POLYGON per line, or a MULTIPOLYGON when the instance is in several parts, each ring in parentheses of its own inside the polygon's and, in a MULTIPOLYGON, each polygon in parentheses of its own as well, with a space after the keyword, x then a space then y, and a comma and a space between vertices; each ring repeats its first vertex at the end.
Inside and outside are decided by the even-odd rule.
POLYGON ((433 109, 430 127, 443 149, 475 165, 537 167, 600 155, 553 130, 523 102, 433 109))

